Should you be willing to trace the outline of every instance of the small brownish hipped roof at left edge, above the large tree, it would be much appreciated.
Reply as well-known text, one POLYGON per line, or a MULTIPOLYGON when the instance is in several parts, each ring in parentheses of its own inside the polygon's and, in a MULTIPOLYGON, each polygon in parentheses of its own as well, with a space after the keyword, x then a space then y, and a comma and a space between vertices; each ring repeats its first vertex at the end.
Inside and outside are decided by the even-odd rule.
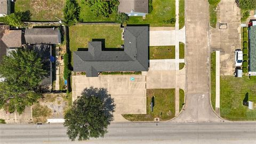
POLYGON ((6 29, 2 41, 8 48, 22 47, 25 44, 24 33, 22 30, 6 29))

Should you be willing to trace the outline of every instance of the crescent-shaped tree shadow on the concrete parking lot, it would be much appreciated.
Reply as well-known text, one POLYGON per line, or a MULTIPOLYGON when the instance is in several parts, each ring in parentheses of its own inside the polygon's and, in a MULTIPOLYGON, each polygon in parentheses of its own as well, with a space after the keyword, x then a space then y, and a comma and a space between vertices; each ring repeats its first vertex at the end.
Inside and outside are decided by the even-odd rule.
POLYGON ((113 113, 115 111, 114 99, 111 98, 111 95, 108 94, 106 88, 94 88, 91 86, 89 89, 86 87, 81 95, 86 95, 86 97, 95 96, 101 99, 104 105, 104 113, 109 117, 109 121, 113 121, 113 113))

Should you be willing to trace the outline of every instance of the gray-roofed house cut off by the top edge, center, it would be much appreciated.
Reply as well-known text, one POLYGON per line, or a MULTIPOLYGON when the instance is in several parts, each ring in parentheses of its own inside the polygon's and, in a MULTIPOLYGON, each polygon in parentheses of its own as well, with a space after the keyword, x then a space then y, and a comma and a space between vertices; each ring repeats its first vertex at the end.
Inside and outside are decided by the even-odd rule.
POLYGON ((148 0, 119 0, 118 12, 145 17, 148 14, 148 0))

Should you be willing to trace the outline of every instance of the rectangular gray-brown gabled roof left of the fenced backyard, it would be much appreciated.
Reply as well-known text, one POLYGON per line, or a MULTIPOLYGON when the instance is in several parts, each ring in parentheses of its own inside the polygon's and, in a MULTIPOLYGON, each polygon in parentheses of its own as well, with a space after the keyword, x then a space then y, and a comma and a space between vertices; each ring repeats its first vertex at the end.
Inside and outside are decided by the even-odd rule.
POLYGON ((58 28, 27 28, 25 39, 28 44, 59 44, 61 43, 58 28))

